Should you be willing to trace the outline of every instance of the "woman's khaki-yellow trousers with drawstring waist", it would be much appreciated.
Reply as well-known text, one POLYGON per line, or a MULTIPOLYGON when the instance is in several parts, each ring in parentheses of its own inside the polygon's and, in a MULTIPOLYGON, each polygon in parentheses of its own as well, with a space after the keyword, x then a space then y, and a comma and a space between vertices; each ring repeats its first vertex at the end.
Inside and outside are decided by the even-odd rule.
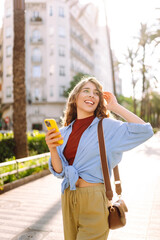
POLYGON ((104 185, 67 188, 62 194, 65 240, 106 240, 109 233, 104 185))

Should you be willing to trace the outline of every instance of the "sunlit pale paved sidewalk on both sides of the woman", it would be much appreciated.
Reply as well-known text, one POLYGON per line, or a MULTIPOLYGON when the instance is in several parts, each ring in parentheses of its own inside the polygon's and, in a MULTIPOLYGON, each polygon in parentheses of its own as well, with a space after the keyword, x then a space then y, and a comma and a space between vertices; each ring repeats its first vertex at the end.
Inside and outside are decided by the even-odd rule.
MULTIPOLYGON (((127 225, 108 240, 160 240, 159 143, 160 133, 124 154, 127 225)), ((61 180, 52 175, 0 195, 0 240, 63 240, 60 196, 61 180)))

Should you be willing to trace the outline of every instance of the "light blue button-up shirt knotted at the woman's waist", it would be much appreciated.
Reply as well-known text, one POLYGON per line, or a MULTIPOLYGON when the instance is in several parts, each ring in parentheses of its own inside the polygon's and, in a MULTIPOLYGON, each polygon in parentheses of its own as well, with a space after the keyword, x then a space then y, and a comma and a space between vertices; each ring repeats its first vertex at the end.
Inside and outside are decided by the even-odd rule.
MULTIPOLYGON (((49 159, 49 169, 56 177, 64 178, 62 193, 69 186, 71 190, 76 190, 75 184, 79 176, 86 182, 103 183, 97 132, 99 120, 96 117, 83 132, 72 166, 69 166, 63 151, 72 132, 74 121, 69 126, 60 129, 64 143, 57 147, 57 151, 62 161, 63 170, 61 173, 55 172, 51 158, 49 159)), ((111 118, 103 119, 103 132, 110 175, 111 170, 121 161, 124 151, 140 145, 153 135, 150 123, 128 123, 111 118)))

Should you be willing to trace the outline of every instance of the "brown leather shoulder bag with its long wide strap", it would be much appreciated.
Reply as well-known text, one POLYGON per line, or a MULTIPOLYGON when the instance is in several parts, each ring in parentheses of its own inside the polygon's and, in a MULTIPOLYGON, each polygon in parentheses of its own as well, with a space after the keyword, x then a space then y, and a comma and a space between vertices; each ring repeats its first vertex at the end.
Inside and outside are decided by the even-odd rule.
POLYGON ((115 179, 115 189, 116 193, 119 196, 119 200, 113 203, 113 191, 111 188, 110 176, 109 176, 109 169, 108 169, 108 162, 104 144, 104 134, 103 134, 103 126, 102 126, 101 119, 98 123, 98 140, 99 140, 99 149, 100 149, 100 157, 101 157, 101 165, 102 165, 102 172, 106 190, 106 196, 109 200, 109 228, 110 229, 117 229, 126 225, 126 216, 125 212, 128 212, 127 206, 124 201, 121 199, 121 182, 119 177, 119 170, 118 165, 113 169, 114 172, 114 179, 115 179))

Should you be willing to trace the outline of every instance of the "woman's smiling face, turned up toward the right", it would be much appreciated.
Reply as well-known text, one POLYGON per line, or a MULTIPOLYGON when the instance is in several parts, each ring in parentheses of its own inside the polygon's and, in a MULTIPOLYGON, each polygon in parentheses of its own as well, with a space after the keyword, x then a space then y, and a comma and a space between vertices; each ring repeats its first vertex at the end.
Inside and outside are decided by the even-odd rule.
POLYGON ((82 119, 94 115, 99 103, 99 91, 95 84, 87 82, 76 99, 77 118, 82 119))

